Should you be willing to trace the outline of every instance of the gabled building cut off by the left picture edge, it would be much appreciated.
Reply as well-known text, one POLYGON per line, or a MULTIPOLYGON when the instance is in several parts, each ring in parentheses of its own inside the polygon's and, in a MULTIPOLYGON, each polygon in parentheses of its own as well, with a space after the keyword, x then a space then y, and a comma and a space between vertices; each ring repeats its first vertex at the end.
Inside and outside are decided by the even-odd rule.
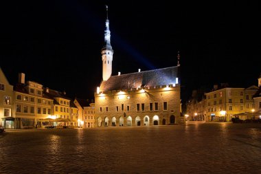
POLYGON ((14 129, 13 86, 0 67, 0 126, 14 129))

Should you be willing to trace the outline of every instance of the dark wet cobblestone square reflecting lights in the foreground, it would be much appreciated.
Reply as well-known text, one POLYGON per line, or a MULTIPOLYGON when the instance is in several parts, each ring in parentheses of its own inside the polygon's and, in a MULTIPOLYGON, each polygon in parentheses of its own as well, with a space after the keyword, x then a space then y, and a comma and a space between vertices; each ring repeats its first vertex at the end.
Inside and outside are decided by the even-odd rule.
POLYGON ((0 173, 261 173, 261 124, 0 134, 0 173))

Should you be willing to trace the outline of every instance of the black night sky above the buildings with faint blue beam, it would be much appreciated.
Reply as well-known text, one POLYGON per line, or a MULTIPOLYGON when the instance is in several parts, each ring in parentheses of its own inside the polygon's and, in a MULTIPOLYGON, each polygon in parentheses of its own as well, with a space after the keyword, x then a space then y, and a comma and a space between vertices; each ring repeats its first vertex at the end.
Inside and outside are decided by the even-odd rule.
POLYGON ((258 85, 260 17, 248 1, 1 1, 0 67, 71 97, 93 98, 102 80, 109 6, 113 75, 172 67, 181 98, 203 85, 258 85))

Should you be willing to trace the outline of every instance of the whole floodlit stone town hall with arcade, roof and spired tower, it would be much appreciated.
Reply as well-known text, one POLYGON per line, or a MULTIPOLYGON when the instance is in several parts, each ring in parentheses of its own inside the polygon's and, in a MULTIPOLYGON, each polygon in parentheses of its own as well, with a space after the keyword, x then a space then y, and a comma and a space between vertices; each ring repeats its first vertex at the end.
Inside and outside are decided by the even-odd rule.
POLYGON ((183 123, 179 63, 177 67, 111 76, 113 50, 108 15, 105 24, 103 80, 95 92, 95 127, 183 123))

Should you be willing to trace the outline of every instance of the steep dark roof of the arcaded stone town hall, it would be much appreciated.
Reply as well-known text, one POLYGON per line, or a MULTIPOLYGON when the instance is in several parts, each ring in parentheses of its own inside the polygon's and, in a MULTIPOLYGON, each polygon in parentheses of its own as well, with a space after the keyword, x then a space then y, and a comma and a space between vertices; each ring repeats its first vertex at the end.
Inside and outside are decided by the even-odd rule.
POLYGON ((176 83, 178 67, 166 67, 146 72, 136 72, 111 76, 102 81, 100 91, 112 91, 120 89, 137 89, 137 87, 153 87, 157 85, 171 85, 176 83))

